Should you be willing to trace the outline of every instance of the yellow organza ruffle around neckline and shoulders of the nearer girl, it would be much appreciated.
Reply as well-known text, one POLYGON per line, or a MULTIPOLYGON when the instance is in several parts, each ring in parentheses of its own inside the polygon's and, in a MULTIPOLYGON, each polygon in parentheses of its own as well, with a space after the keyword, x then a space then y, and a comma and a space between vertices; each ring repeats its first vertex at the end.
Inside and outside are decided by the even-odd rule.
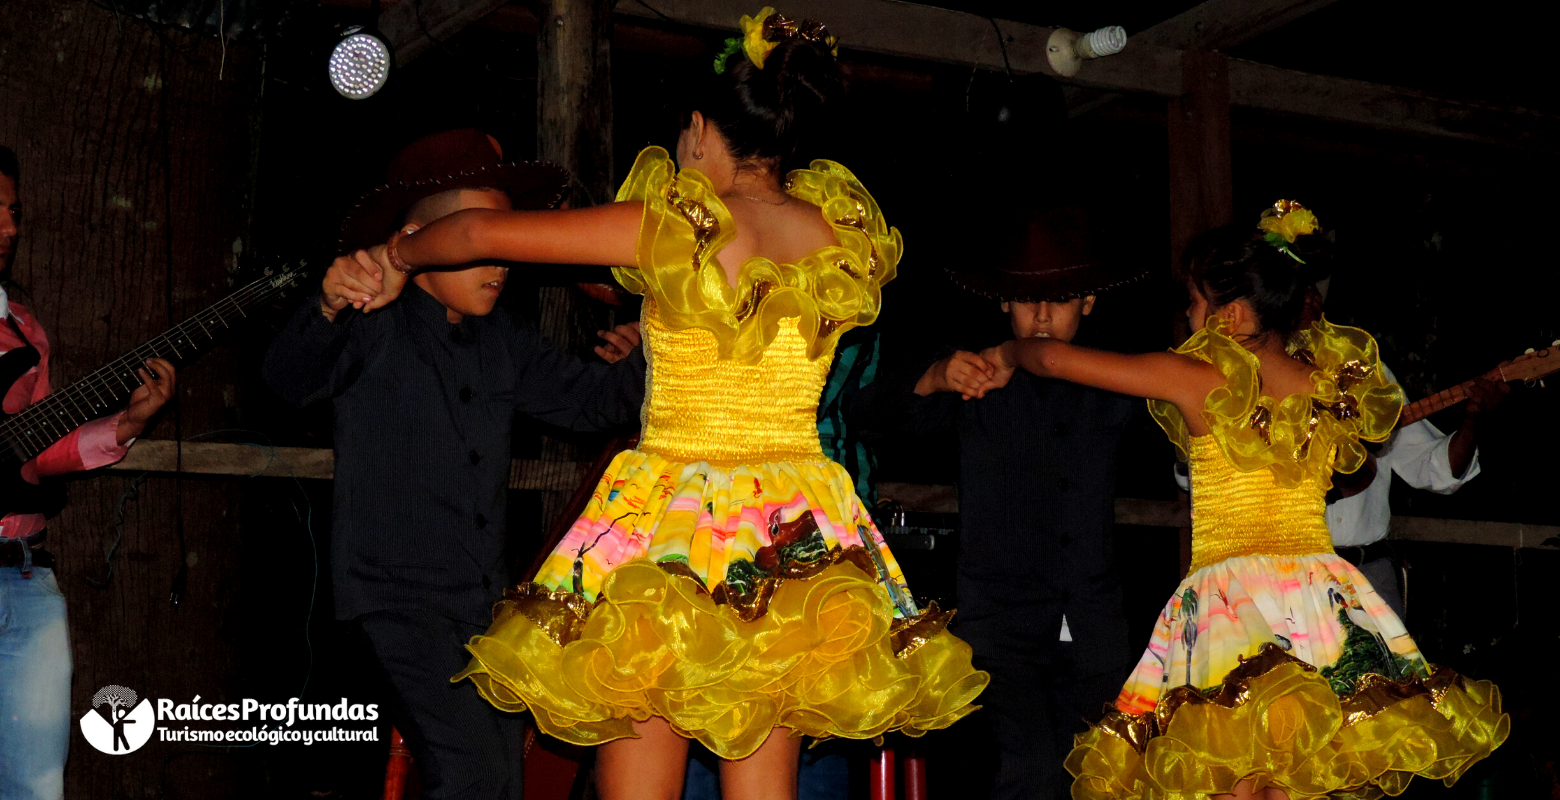
POLYGON ((808 357, 830 352, 839 334, 877 320, 880 290, 894 278, 903 243, 839 164, 814 161, 789 173, 786 192, 819 206, 839 245, 797 264, 749 259, 733 288, 716 260, 735 235, 725 204, 697 170, 679 172, 665 150, 646 148, 618 190, 618 201, 644 203, 636 267, 613 274, 651 298, 665 326, 714 334, 722 359, 758 362, 789 317, 800 318, 808 357))

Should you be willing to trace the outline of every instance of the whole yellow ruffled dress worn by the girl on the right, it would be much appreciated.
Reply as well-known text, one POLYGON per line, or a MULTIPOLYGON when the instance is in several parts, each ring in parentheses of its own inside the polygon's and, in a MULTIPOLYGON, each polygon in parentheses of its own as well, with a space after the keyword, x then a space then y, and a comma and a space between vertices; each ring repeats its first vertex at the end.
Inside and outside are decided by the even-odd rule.
POLYGON ((1402 622, 1332 552, 1334 469, 1365 462, 1402 409, 1370 334, 1320 321, 1296 340, 1315 391, 1260 396, 1257 359, 1217 327, 1178 352, 1218 368, 1209 435, 1150 412, 1190 460, 1192 572, 1104 719, 1067 769, 1080 800, 1192 800, 1246 778, 1292 800, 1451 784, 1505 741, 1490 681, 1426 663, 1402 622))

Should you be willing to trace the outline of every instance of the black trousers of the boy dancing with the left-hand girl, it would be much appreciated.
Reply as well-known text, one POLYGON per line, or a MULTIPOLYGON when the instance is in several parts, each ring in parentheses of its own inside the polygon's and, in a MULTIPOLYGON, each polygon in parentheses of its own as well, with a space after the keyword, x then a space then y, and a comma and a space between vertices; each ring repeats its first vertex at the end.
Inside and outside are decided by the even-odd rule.
POLYGON ((432 611, 374 611, 357 618, 390 691, 429 800, 521 800, 524 717, 493 708, 471 681, 449 683, 485 628, 432 611))

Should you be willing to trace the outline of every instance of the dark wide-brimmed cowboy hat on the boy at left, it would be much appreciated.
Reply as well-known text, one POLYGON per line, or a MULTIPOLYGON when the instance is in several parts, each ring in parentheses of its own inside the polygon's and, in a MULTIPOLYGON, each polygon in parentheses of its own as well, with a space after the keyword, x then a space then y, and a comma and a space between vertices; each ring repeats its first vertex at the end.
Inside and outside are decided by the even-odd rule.
POLYGON ((342 220, 342 253, 381 245, 418 200, 451 189, 498 189, 516 211, 555 207, 569 186, 557 164, 504 161, 488 134, 460 128, 424 136, 390 159, 385 182, 357 198, 342 220))

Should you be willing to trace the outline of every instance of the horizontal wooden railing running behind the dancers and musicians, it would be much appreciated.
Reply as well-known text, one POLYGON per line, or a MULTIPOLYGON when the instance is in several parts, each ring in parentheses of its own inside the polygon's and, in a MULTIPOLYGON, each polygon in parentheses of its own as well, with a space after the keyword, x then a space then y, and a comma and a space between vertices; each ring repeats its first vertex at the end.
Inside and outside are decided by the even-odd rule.
MULTIPOLYGON (((137 441, 125 460, 109 469, 126 473, 173 473, 178 463, 175 443, 137 441)), ((324 448, 265 448, 214 441, 186 441, 183 473, 197 476, 296 477, 331 480, 335 455, 324 448)), ((574 491, 587 480, 590 462, 540 462, 515 458, 509 471, 513 490, 574 491)), ((920 512, 958 512, 953 487, 925 483, 880 483, 878 493, 920 512)), ((1115 521, 1125 526, 1182 529, 1192 524, 1184 504, 1119 497, 1115 521)), ((1557 549, 1544 541, 1560 540, 1560 526, 1393 516, 1392 538, 1446 544, 1488 544, 1494 547, 1557 549)))

